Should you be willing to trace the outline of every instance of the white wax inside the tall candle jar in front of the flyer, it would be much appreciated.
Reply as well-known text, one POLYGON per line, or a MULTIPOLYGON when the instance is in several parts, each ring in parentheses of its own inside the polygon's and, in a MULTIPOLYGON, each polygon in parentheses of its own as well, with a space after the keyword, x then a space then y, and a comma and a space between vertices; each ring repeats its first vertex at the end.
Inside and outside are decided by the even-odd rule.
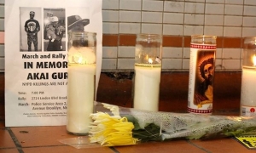
POLYGON ((68 65, 67 131, 88 133, 93 113, 96 65, 68 65))

